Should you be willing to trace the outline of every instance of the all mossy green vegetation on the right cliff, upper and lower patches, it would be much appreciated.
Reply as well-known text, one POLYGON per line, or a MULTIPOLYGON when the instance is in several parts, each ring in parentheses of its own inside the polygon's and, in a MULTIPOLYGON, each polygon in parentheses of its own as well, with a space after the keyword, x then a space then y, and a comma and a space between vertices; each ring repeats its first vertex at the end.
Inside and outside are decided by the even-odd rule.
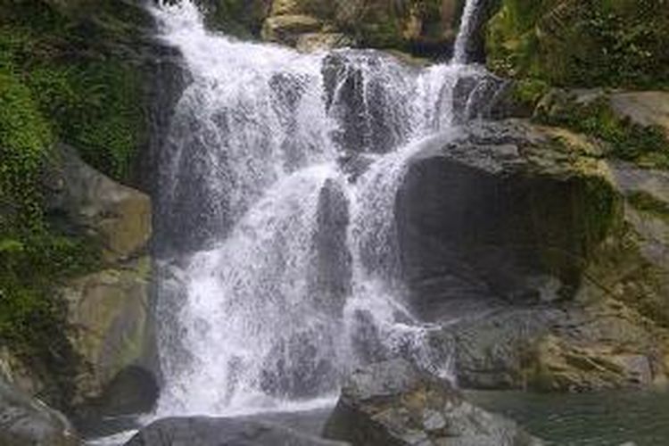
POLYGON ((487 24, 488 66, 514 78, 516 106, 541 124, 607 143, 607 156, 669 168, 661 128, 612 110, 607 92, 581 101, 556 87, 669 88, 664 0, 502 0, 487 24))

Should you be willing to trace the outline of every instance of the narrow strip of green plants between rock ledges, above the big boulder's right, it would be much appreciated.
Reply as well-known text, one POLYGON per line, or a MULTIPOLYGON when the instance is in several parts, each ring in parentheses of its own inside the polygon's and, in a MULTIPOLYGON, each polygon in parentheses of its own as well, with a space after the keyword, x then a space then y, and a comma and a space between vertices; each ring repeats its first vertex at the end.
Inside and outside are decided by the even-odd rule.
POLYGON ((534 120, 570 128, 608 143, 608 156, 648 167, 669 169, 669 141, 664 131, 618 116, 606 95, 585 103, 566 98, 537 108, 534 120))

